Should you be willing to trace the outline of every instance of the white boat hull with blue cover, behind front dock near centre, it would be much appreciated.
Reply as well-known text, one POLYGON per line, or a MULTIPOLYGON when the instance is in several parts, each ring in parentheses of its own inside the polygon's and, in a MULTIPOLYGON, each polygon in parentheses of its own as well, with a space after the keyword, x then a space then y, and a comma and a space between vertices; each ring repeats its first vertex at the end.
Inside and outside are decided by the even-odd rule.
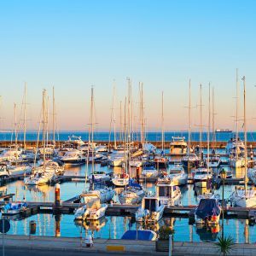
POLYGON ((138 183, 134 183, 132 180, 129 182, 129 186, 119 194, 119 202, 127 205, 137 205, 143 201, 145 191, 138 183))

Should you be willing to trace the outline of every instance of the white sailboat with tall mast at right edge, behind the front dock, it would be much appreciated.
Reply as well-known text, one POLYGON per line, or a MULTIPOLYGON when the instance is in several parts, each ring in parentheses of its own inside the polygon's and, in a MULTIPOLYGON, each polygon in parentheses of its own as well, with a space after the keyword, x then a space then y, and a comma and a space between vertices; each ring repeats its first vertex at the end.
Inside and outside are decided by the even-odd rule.
POLYGON ((244 128, 244 145, 245 145, 245 175, 244 187, 236 187, 230 195, 230 201, 237 207, 255 207, 256 190, 247 188, 247 117, 246 117, 246 78, 243 77, 243 128, 244 128))

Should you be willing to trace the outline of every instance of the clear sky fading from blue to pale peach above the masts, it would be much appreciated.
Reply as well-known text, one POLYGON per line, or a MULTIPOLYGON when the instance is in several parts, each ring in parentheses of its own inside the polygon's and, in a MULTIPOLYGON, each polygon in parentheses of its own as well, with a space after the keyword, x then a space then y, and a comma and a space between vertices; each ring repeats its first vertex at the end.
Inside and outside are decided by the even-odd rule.
MULTIPOLYGON (((247 77, 248 126, 255 130, 255 14, 253 0, 2 0, 2 128, 11 126, 13 103, 20 108, 26 81, 30 129, 38 127, 42 90, 46 88, 51 96, 51 85, 55 85, 59 128, 86 129, 93 84, 97 129, 107 130, 113 79, 119 106, 130 77, 135 109, 138 82, 144 83, 148 130, 160 129, 162 90, 166 130, 187 130, 189 78, 193 107, 199 103, 199 84, 203 84, 204 123, 211 82, 216 126, 234 129, 237 67, 240 78, 247 77)), ((198 119, 199 110, 193 108, 195 129, 198 119)))

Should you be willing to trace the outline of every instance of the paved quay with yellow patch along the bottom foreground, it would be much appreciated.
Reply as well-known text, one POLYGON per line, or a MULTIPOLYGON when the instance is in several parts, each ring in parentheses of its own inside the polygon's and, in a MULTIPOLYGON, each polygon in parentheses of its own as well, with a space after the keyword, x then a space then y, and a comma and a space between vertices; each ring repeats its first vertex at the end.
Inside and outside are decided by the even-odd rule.
MULTIPOLYGON (((148 255, 167 255, 167 253, 156 253, 154 241, 125 241, 113 239, 96 239, 94 247, 85 247, 79 237, 50 237, 50 236, 15 236, 6 235, 4 239, 6 251, 15 254, 15 248, 23 250, 24 252, 55 252, 55 255, 93 255, 96 254, 109 254, 115 255, 141 255, 147 253, 148 255), (124 251, 120 252, 118 249, 123 248, 124 251), (110 250, 109 250, 110 249, 110 250)), ((0 241, 0 247, 2 242, 0 241)), ((44 255, 43 253, 43 255, 44 255)), ((18 250, 17 250, 18 255, 18 250)), ((218 248, 210 242, 174 242, 173 256, 178 255, 220 255, 218 248)), ((236 256, 253 256, 256 255, 256 244, 236 244, 230 255, 236 256)))

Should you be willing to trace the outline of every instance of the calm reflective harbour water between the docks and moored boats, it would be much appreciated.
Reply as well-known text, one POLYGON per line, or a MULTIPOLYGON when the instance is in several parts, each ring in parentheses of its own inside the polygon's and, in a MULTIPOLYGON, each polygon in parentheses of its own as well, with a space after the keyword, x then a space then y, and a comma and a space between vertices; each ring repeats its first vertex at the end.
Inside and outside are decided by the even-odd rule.
MULTIPOLYGON (((120 172, 120 168, 108 169, 108 166, 101 167, 95 166, 96 170, 103 168, 108 172, 120 172)), ((84 175, 85 166, 75 166, 67 169, 66 175, 84 175)), ((91 166, 89 166, 89 172, 91 172, 91 166)), ((135 174, 135 169, 131 172, 135 174)), ((234 175, 242 176, 243 170, 234 172, 234 175)), ((148 190, 154 191, 154 183, 143 184, 148 190)), ((72 198, 75 195, 79 195, 84 189, 84 182, 68 182, 61 183, 61 200, 65 201, 72 198)), ((24 186, 23 181, 16 181, 9 183, 6 186, 0 188, 2 192, 15 193, 14 200, 26 201, 54 201, 55 189, 53 186, 24 186)), ((233 186, 224 187, 224 196, 227 198, 233 186)), ((195 205, 196 195, 193 185, 188 185, 181 188, 183 205, 195 205)), ((200 193, 206 192, 207 189, 202 189, 200 193)), ((218 189, 218 193, 221 195, 222 188, 218 189)), ((117 196, 115 201, 118 201, 117 196)), ((106 217, 101 219, 95 224, 90 223, 75 223, 73 221, 73 215, 61 215, 61 217, 51 214, 37 214, 29 218, 20 220, 11 220, 11 230, 9 234, 17 235, 29 235, 29 222, 31 220, 36 221, 38 236, 69 236, 79 237, 84 236, 85 232, 93 233, 95 237, 102 238, 116 238, 119 239, 125 232, 125 230, 138 230, 138 229, 151 229, 159 230, 162 225, 172 226, 175 230, 175 241, 215 241, 218 232, 221 232, 221 228, 218 226, 215 230, 207 230, 206 228, 197 229, 195 225, 189 225, 188 218, 163 218, 159 224, 151 227, 141 226, 136 224, 133 219, 128 217, 106 217), (58 231, 60 227, 60 232, 58 231)), ((247 220, 229 219, 224 220, 224 233, 226 235, 233 236, 236 242, 256 242, 256 229, 253 226, 249 226, 247 220)), ((220 234, 220 233, 219 233, 220 234)))

